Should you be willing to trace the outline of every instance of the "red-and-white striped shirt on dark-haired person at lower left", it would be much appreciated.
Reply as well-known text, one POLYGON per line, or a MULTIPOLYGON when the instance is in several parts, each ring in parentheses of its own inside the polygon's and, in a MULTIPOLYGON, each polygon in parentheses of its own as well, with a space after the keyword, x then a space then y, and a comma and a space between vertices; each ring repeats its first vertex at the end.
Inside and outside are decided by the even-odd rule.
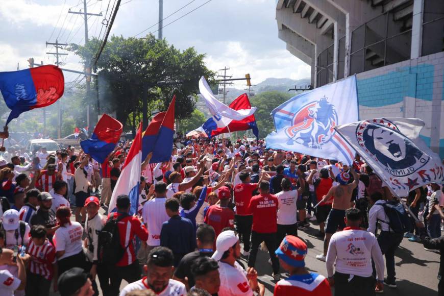
POLYGON ((31 239, 28 245, 28 254, 31 256, 29 271, 51 280, 54 276, 53 264, 56 263, 54 245, 48 239, 42 245, 36 245, 31 239))

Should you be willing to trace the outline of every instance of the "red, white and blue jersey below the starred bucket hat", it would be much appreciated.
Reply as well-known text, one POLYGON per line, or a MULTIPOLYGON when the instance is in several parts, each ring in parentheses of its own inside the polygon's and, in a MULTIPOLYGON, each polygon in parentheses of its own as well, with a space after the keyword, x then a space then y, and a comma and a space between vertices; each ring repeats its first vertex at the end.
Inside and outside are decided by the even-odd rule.
POLYGON ((275 286, 274 295, 331 296, 331 289, 324 276, 310 273, 280 280, 275 286))

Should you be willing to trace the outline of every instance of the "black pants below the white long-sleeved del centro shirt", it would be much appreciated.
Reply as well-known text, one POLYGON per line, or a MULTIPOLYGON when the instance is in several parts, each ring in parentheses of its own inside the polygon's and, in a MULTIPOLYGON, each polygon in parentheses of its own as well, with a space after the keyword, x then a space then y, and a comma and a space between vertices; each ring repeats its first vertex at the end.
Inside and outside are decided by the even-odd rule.
POLYGON ((374 277, 359 277, 349 274, 334 274, 335 296, 373 296, 376 281, 374 277), (351 280, 349 280, 352 277, 351 280))

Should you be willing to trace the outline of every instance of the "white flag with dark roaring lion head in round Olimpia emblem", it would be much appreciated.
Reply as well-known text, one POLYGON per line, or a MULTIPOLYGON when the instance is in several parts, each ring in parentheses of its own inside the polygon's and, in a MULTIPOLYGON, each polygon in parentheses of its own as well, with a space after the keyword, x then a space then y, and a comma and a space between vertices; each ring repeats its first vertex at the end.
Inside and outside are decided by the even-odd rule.
POLYGON ((444 183, 441 159, 420 138, 418 118, 375 118, 336 131, 398 196, 428 183, 444 183))

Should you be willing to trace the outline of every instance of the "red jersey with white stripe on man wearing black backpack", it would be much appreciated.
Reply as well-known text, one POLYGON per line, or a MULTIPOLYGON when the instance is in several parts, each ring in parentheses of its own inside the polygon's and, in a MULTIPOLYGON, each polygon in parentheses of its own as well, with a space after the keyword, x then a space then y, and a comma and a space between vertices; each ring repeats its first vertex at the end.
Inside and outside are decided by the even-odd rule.
MULTIPOLYGON (((111 217, 117 218, 121 214, 122 213, 119 212, 110 213, 108 219, 111 217)), ((120 245, 122 248, 126 248, 128 245, 128 248, 124 253, 124 257, 117 262, 116 266, 128 266, 136 260, 134 243, 132 242, 134 236, 137 235, 140 240, 146 241, 148 239, 148 231, 145 225, 135 216, 128 216, 121 219, 117 223, 117 227, 119 229, 120 245)))

